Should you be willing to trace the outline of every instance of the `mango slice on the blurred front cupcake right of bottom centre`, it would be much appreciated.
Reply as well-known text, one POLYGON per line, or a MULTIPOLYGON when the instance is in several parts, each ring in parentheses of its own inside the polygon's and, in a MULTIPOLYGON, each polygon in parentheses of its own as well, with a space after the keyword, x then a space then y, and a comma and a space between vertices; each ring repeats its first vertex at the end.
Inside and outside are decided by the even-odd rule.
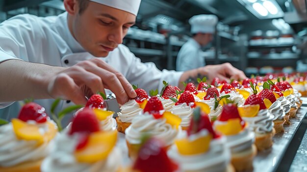
POLYGON ((212 136, 208 134, 193 141, 187 138, 179 139, 175 144, 181 155, 195 155, 205 153, 209 149, 211 138, 212 136))

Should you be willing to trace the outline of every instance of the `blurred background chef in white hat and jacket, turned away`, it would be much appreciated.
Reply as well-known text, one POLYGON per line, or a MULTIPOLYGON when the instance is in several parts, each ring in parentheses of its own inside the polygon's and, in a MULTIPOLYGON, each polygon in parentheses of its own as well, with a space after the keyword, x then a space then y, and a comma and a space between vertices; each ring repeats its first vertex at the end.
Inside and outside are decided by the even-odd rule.
POLYGON ((177 71, 188 71, 205 66, 202 47, 212 41, 218 18, 215 15, 196 15, 189 20, 192 38, 179 50, 176 62, 177 71))

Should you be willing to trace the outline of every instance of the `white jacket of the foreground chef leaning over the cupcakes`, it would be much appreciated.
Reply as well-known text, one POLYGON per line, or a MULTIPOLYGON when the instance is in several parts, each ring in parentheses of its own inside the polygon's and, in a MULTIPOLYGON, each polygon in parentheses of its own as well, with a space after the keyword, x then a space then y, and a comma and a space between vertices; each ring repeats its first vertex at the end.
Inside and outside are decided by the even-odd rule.
MULTIPOLYGON (((15 16, 0 24, 0 40, 0 62, 21 59, 51 66, 69 67, 80 61, 94 58, 93 55, 85 52, 71 35, 67 25, 67 12, 45 18, 29 14, 15 16)), ((130 83, 138 84, 147 92, 157 88, 161 90, 163 80, 171 85, 178 85, 182 74, 167 70, 161 72, 153 63, 141 63, 140 59, 124 45, 119 45, 107 57, 101 59, 121 72, 130 83)), ((49 114, 53 101, 53 99, 35 100, 45 107, 49 114)), ((0 102, 0 108, 2 108, 0 118, 9 120, 17 117, 20 103, 10 104, 12 102, 0 102)), ((72 102, 62 101, 59 108, 69 105, 72 105, 72 102)))

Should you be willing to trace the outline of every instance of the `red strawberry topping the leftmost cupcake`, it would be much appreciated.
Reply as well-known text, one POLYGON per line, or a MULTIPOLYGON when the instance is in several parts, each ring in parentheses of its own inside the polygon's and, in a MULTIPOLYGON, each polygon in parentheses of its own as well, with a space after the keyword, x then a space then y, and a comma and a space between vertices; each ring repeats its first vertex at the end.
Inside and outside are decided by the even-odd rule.
POLYGON ((37 123, 45 123, 47 121, 45 108, 34 102, 26 103, 19 112, 18 119, 27 122, 28 120, 36 121, 37 123))

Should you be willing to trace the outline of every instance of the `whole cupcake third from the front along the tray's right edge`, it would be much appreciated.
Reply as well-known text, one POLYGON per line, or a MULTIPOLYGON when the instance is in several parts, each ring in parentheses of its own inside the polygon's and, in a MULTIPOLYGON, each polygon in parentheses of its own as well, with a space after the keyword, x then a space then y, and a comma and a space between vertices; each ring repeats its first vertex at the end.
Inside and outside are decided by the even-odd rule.
POLYGON ((276 133, 281 133, 283 131, 283 124, 285 123, 285 112, 283 111, 283 107, 281 106, 281 101, 276 100, 275 95, 270 90, 270 84, 267 82, 263 83, 263 90, 259 93, 259 95, 263 98, 264 104, 268 109, 269 113, 274 115, 274 128, 276 133))

